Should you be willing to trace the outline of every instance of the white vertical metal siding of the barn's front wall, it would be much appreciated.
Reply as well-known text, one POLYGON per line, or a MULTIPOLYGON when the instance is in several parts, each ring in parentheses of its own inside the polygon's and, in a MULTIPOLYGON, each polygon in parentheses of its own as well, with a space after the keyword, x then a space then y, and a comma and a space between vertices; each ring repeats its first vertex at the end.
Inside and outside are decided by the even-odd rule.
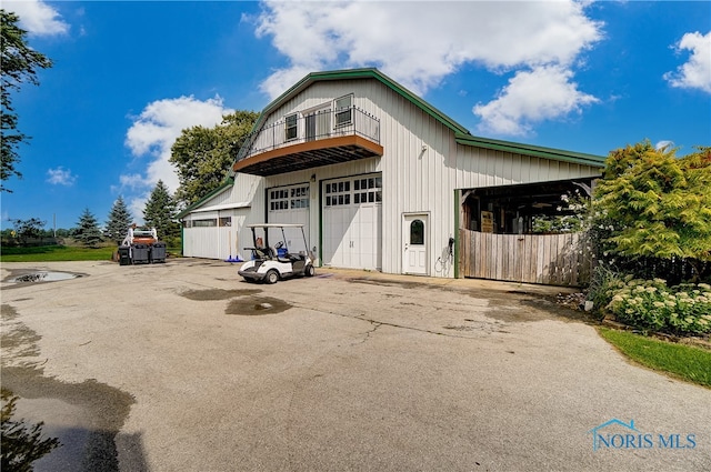
MULTIPOLYGON (((449 128, 374 79, 317 82, 276 109, 266 118, 264 124, 282 120, 289 113, 330 103, 348 93, 354 94, 356 107, 380 119, 382 158, 270 177, 251 192, 252 207, 246 223, 263 220, 264 188, 310 182, 311 174, 316 174, 310 208, 319 211, 310 211, 309 234, 311 244, 316 245, 319 241, 320 182, 382 172, 382 271, 399 273, 402 269, 402 214, 427 212, 431 228, 429 273, 452 277, 451 269, 444 274, 434 270, 434 261, 457 231, 452 190, 600 174, 599 169, 587 165, 561 167, 558 161, 457 144, 449 128), (422 144, 428 147, 423 153, 422 144)), ((234 187, 238 187, 237 181, 234 187)))

